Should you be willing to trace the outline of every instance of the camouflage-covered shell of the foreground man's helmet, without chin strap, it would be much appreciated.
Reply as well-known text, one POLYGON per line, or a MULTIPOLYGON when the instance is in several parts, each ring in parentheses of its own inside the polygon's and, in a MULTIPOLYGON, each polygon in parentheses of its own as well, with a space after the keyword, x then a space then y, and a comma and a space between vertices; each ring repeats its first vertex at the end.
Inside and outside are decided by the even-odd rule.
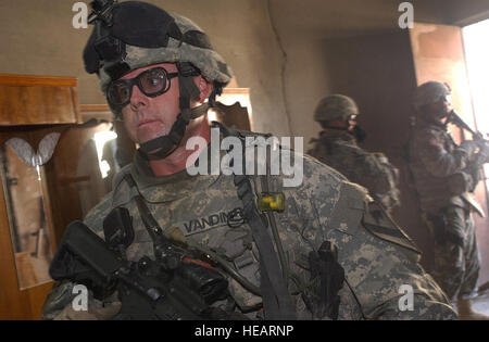
POLYGON ((225 87, 233 77, 199 26, 140 1, 113 5, 111 16, 93 29, 84 62, 88 73, 99 75, 104 92, 111 80, 138 67, 165 62, 190 62, 214 86, 225 87))

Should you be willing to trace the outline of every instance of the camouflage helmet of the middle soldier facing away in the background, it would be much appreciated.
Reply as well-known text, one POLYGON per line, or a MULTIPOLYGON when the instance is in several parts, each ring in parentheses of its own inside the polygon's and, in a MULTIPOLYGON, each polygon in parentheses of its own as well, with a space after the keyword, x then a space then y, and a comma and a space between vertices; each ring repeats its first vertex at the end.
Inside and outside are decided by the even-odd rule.
POLYGON ((349 97, 331 94, 323 98, 314 111, 316 122, 348 119, 350 115, 359 115, 356 103, 349 97))

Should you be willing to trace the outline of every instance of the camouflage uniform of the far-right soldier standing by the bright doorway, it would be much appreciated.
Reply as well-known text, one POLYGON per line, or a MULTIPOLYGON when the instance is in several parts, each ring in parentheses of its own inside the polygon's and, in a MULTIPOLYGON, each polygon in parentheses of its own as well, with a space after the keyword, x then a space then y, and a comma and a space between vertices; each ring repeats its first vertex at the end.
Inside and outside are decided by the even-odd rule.
POLYGON ((431 274, 452 301, 474 291, 480 268, 473 200, 463 183, 473 155, 469 144, 453 141, 446 125, 419 118, 410 141, 410 166, 434 237, 431 274))

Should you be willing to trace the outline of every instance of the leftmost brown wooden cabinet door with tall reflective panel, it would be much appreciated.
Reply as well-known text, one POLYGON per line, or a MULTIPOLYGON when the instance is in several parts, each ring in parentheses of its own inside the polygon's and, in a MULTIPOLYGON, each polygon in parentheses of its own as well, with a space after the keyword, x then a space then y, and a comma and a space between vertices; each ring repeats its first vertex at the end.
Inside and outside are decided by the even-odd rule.
POLYGON ((52 287, 54 235, 43 167, 14 150, 0 148, 0 319, 33 319, 52 287))

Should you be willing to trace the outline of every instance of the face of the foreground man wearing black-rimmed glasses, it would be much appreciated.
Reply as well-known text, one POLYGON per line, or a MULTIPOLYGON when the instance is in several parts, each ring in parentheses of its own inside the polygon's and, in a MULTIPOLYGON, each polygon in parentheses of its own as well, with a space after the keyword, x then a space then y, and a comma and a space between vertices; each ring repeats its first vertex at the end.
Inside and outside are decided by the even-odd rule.
MULTIPOLYGON (((134 69, 121 79, 129 79, 155 66, 164 67, 168 73, 176 73, 173 63, 160 63, 134 69)), ((124 125, 133 141, 147 142, 167 135, 176 121, 179 110, 178 78, 172 78, 168 91, 151 98, 147 97, 135 85, 130 102, 122 110, 124 125)))

